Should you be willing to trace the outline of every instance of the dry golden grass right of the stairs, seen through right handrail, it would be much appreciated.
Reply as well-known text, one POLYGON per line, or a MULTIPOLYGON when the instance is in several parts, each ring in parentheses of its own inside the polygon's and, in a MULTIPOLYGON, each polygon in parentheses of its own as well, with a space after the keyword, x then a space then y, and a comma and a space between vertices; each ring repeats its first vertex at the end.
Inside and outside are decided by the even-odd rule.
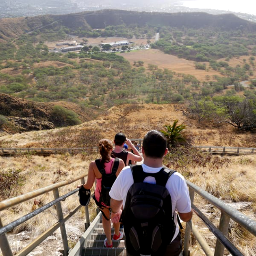
MULTIPOLYGON (((183 170, 181 173, 200 188, 256 220, 256 156, 230 156, 222 157, 222 159, 227 160, 226 164, 220 168, 212 168, 210 162, 215 161, 212 158, 206 167, 188 166, 188 170, 183 170)), ((202 200, 202 197, 198 195, 195 196, 194 204, 215 226, 219 225, 221 212, 217 208, 206 200, 202 200)), ((200 229, 208 245, 214 249, 215 237, 195 214, 193 223, 200 229)), ((244 255, 256 255, 256 237, 232 220, 230 221, 229 239, 244 255)), ((204 255, 200 245, 193 240, 193 236, 191 243, 194 244, 191 248, 191 255, 204 255)), ((229 255, 226 250, 224 255, 229 255)))

